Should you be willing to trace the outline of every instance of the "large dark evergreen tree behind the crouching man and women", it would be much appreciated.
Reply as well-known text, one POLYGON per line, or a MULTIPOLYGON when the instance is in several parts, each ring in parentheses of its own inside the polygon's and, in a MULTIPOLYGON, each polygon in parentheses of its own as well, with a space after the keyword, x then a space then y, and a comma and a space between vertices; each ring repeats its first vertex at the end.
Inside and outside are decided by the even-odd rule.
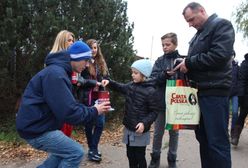
MULTIPOLYGON (((43 68, 45 56, 63 29, 84 40, 99 40, 112 78, 127 81, 134 51, 133 24, 126 11, 123 0, 1 0, 1 114, 15 112, 18 97, 43 68)), ((115 98, 113 104, 118 107, 119 101, 115 98)))

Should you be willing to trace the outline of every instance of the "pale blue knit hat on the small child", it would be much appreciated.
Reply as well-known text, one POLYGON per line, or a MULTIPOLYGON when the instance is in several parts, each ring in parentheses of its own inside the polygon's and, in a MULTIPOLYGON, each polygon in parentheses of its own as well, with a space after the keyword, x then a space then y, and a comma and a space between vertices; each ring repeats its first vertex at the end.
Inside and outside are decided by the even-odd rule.
POLYGON ((141 59, 141 60, 135 61, 131 65, 131 67, 137 69, 145 77, 149 77, 152 73, 152 63, 151 61, 147 59, 141 59))

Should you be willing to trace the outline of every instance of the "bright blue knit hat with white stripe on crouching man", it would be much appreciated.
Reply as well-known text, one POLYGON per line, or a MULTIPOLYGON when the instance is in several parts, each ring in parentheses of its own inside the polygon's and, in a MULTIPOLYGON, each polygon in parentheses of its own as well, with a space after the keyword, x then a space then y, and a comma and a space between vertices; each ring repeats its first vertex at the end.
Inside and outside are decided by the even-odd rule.
POLYGON ((71 57, 71 61, 89 60, 92 58, 92 51, 90 47, 83 41, 76 41, 73 43, 68 52, 71 57))

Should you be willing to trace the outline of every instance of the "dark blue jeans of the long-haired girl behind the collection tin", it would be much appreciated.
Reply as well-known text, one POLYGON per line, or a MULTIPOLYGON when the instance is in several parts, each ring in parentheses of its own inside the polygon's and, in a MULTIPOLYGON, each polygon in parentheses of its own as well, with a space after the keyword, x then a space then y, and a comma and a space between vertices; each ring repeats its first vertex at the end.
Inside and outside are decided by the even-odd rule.
POLYGON ((98 144, 102 135, 104 124, 105 115, 99 115, 96 120, 93 120, 85 125, 85 133, 90 151, 98 151, 98 144))

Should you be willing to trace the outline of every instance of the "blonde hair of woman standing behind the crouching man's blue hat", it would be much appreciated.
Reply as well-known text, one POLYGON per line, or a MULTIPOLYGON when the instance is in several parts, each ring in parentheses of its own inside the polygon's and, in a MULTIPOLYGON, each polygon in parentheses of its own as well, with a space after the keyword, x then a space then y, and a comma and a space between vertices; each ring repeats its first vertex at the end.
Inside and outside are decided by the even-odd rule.
POLYGON ((72 36, 73 40, 75 39, 75 36, 72 32, 69 32, 68 30, 61 30, 56 36, 56 39, 53 44, 53 48, 50 51, 50 53, 56 53, 62 50, 66 50, 67 49, 66 43, 69 36, 72 36))

